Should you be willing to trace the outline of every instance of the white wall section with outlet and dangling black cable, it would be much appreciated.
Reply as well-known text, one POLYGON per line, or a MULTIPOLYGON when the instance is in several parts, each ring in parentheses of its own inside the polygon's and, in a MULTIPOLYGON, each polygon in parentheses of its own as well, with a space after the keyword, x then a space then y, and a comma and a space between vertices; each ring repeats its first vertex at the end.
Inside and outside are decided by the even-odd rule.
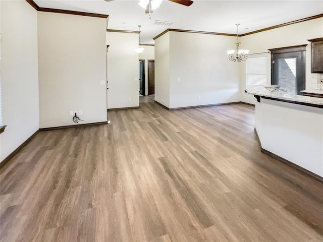
POLYGON ((106 19, 38 13, 40 128, 106 121, 106 19), (100 85, 100 82, 103 85, 100 85))

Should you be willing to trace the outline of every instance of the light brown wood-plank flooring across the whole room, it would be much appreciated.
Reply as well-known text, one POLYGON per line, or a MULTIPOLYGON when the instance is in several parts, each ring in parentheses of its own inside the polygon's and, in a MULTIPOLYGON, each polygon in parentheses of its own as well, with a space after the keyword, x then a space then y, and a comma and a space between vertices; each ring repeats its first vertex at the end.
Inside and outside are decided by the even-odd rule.
POLYGON ((323 241, 323 184, 260 152, 253 106, 152 98, 38 133, 1 169, 0 241, 323 241))

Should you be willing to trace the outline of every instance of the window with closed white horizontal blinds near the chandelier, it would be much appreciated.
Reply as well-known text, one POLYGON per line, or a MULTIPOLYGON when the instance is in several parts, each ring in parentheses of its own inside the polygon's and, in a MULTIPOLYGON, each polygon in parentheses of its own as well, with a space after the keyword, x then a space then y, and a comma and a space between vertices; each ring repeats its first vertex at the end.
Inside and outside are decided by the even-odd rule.
POLYGON ((267 85, 267 55, 247 58, 246 86, 267 85))

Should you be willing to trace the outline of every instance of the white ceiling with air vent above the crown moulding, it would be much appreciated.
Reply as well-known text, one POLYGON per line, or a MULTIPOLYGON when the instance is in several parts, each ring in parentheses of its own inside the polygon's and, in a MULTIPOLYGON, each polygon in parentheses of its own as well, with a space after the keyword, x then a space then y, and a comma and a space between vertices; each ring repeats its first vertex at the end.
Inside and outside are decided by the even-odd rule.
POLYGON ((139 0, 34 0, 39 7, 109 15, 108 29, 138 30, 141 43, 151 44, 152 38, 167 28, 239 34, 307 18, 323 13, 320 1, 243 1, 195 0, 190 7, 163 0, 151 14, 141 8, 139 0), (153 25, 155 20, 175 22, 171 27, 153 25))

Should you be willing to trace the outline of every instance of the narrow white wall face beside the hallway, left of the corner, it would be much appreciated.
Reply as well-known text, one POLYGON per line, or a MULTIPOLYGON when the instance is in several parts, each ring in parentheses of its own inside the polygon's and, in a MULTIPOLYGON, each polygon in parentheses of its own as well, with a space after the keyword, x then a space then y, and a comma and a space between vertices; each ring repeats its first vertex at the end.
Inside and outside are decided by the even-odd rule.
POLYGON ((155 39, 155 101, 170 107, 170 32, 155 39))

